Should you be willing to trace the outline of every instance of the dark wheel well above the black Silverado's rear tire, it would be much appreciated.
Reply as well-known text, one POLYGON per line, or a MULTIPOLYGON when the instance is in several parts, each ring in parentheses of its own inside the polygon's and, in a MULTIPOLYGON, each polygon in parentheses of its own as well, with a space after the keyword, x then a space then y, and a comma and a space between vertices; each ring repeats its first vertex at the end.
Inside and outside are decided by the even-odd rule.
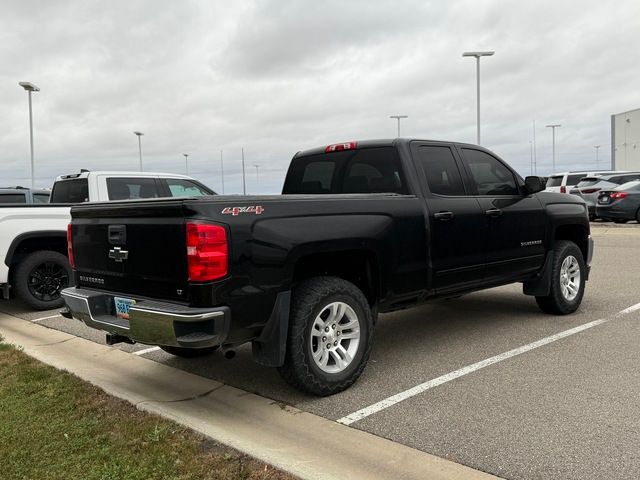
POLYGON ((373 252, 346 250, 317 253, 300 258, 293 274, 294 284, 317 276, 343 278, 356 285, 370 305, 375 305, 378 295, 378 263, 373 252))

